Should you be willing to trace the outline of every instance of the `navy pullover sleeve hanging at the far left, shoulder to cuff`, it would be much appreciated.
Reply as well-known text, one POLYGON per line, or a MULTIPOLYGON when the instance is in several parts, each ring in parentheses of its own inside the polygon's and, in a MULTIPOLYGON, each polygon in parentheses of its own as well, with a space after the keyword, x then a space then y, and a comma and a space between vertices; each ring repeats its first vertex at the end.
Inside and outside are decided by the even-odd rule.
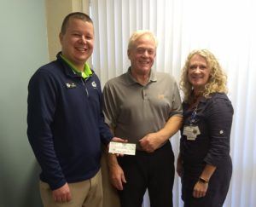
POLYGON ((54 121, 56 87, 46 72, 36 72, 28 84, 27 136, 52 190, 63 186, 66 179, 55 154, 51 124, 54 121))

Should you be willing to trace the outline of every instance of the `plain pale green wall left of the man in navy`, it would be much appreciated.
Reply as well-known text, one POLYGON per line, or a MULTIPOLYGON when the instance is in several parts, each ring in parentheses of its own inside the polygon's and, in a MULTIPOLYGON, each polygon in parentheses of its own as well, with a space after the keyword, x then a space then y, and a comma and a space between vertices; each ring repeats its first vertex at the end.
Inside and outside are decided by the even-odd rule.
POLYGON ((49 61, 44 0, 1 0, 0 26, 0 206, 40 207, 26 96, 32 73, 49 61))

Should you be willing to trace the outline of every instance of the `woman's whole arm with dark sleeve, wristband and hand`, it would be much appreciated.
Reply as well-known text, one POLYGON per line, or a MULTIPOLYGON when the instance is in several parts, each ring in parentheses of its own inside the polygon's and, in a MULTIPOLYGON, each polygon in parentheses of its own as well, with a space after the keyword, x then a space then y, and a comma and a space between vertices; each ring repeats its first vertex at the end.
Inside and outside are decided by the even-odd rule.
POLYGON ((213 100, 207 112, 210 147, 204 159, 206 166, 200 175, 202 180, 195 184, 193 193, 195 198, 206 195, 208 181, 210 181, 214 171, 223 164, 224 158, 230 154, 230 129, 233 116, 233 107, 230 101, 227 98, 213 100))

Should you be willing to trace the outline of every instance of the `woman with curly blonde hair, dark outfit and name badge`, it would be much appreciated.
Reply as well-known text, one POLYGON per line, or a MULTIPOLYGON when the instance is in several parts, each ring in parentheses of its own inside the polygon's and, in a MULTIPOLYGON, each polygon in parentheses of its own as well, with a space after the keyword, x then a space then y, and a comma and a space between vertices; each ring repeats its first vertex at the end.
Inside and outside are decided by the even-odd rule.
POLYGON ((183 66, 183 127, 177 173, 184 207, 219 207, 230 186, 233 107, 226 75, 206 49, 191 52, 183 66))

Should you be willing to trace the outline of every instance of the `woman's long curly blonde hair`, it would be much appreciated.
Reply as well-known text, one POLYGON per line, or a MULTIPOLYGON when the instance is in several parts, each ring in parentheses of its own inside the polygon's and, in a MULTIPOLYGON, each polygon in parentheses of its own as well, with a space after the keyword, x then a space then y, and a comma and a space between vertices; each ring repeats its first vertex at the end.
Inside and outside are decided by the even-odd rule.
POLYGON ((188 70, 190 60, 194 55, 200 55, 207 61, 207 66, 210 68, 210 77, 201 95, 208 98, 212 93, 227 93, 228 89, 226 86, 227 76, 219 65, 216 57, 207 49, 196 49, 193 50, 187 57, 180 80, 180 89, 183 90, 184 101, 190 103, 193 99, 192 90, 193 86, 189 83, 188 70))

